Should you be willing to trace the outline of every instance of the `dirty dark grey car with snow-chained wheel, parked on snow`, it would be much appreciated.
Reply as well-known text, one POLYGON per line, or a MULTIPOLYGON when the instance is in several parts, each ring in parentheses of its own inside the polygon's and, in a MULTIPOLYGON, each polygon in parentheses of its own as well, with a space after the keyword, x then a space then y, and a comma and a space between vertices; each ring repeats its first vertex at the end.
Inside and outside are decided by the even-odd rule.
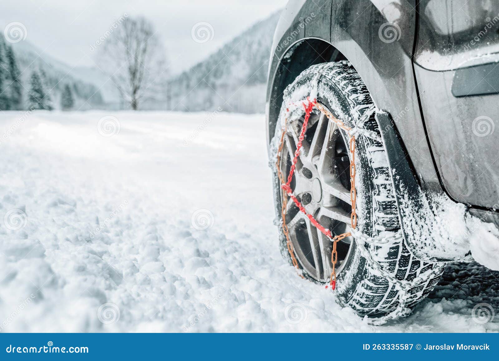
POLYGON ((373 324, 408 315, 446 263, 499 259, 473 237, 499 226, 498 29, 499 1, 281 13, 266 94, 280 248, 373 324))

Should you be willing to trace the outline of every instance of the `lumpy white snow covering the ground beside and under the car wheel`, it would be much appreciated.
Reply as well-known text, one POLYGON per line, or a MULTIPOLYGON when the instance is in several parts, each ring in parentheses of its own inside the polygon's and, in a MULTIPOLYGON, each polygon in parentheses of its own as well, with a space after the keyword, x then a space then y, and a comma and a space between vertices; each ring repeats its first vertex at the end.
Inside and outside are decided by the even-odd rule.
POLYGON ((0 114, 1 332, 499 330, 471 316, 499 310, 499 272, 477 264, 382 327, 297 277, 277 249, 263 116, 121 112, 104 137, 106 115, 0 114))

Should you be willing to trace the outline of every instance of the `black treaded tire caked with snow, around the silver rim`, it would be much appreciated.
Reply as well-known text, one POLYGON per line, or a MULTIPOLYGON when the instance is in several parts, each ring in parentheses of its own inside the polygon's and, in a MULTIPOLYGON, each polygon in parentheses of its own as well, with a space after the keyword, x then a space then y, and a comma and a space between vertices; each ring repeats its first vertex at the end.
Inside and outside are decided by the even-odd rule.
MULTIPOLYGON (((284 101, 270 148, 271 164, 275 164, 284 119, 289 118, 289 122, 293 117, 297 119, 303 115, 299 107, 289 111, 289 104, 302 101, 311 93, 313 97, 316 96, 318 103, 326 106, 336 118, 352 128, 373 106, 365 84, 349 62, 309 67, 284 91, 284 101)), ((364 128, 380 136, 374 113, 365 121, 364 128)), ((382 237, 399 231, 400 220, 385 149, 381 142, 373 138, 376 137, 356 137, 357 229, 370 237, 382 237)), ((276 169, 273 173, 281 253, 291 260, 282 231, 282 193, 276 169)), ((297 258, 306 278, 324 282, 307 274, 299 255, 297 258)), ((344 264, 337 273, 336 301, 342 306, 351 307, 360 316, 370 318, 385 317, 389 320, 407 315, 407 308, 424 299, 435 287, 444 266, 442 263, 416 259, 401 237, 386 244, 369 244, 356 239, 351 242, 344 264), (359 247, 365 250, 362 252, 359 247), (401 282, 409 282, 411 286, 402 290, 397 285, 401 282), (386 315, 390 313, 392 316, 387 318, 386 315)))

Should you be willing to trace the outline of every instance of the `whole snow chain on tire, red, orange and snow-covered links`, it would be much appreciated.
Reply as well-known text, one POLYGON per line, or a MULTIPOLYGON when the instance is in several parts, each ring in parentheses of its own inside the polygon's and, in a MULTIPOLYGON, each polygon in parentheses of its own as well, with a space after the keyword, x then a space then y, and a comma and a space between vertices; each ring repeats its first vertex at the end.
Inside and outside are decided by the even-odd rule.
POLYGON ((294 249, 293 245, 291 244, 290 238, 289 238, 289 230, 286 224, 286 207, 287 207, 287 196, 291 198, 291 200, 296 204, 296 206, 299 208, 299 210, 304 213, 309 219, 310 222, 319 230, 321 231, 332 243, 332 252, 331 252, 331 263, 333 265, 333 270, 331 272, 331 278, 330 278, 330 286, 331 289, 334 290, 336 288, 336 261, 338 257, 338 253, 336 251, 336 244, 338 241, 342 240, 345 237, 352 236, 354 240, 358 244, 358 248, 362 253, 362 256, 367 259, 367 261, 370 263, 372 268, 379 272, 381 275, 383 275, 391 284, 395 286, 399 291, 402 292, 400 298, 399 298, 399 304, 397 308, 388 313, 387 315, 381 317, 381 318, 376 318, 376 319, 371 319, 371 324, 373 325, 382 325, 392 319, 395 319, 397 317, 404 317, 408 316, 411 312, 409 308, 406 307, 407 301, 410 298, 410 290, 414 288, 416 285, 424 281, 424 278, 431 277, 433 275, 436 275, 441 271, 440 267, 434 267, 432 270, 429 270, 428 272, 425 272, 425 277, 423 278, 421 275, 419 277, 416 277, 413 279, 411 282, 409 281, 401 281, 396 279, 395 277, 391 276, 388 272, 386 272, 381 265, 374 261, 373 258, 371 257, 369 251, 366 249, 365 245, 367 244, 386 244, 388 242, 393 242, 396 240, 400 240, 403 238, 402 232, 399 230, 398 232, 394 233, 393 235, 386 236, 386 237, 370 237, 359 230, 356 229, 357 227, 357 213, 356 213, 356 201, 357 201, 357 193, 355 189, 355 175, 356 175, 356 168, 355 168, 355 135, 363 135, 367 138, 371 138, 373 140, 376 140, 378 142, 381 142, 380 136, 370 130, 367 130, 364 128, 364 123, 369 120, 371 115, 375 112, 375 107, 374 105, 371 105, 371 107, 364 113, 362 119, 357 123, 357 125, 354 128, 347 127, 341 120, 337 119, 331 112, 329 112, 327 109, 325 109, 322 105, 317 103, 316 100, 316 92, 317 92, 317 81, 320 76, 321 71, 324 68, 321 68, 317 74, 317 76, 314 79, 314 85, 313 85, 313 90, 311 92, 313 97, 313 101, 310 100, 310 97, 307 97, 305 100, 298 102, 298 103, 290 103, 288 104, 288 107, 286 109, 286 117, 284 119, 284 126, 282 129, 282 135, 280 138, 280 143, 279 143, 279 148, 277 150, 277 163, 276 163, 276 168, 277 168, 277 174, 279 181, 281 183, 281 189, 282 189, 282 207, 281 207, 281 219, 282 219, 282 231, 286 237, 286 245, 287 245, 287 250, 289 252, 289 255, 291 256, 291 261, 294 265, 294 267, 298 270, 300 277, 303 278, 303 275, 301 274, 301 270, 299 269, 298 266, 298 261, 296 260, 296 256, 294 254, 294 249), (294 158, 292 159, 291 162, 291 169, 289 171, 289 175, 287 177, 287 180, 284 179, 284 176, 282 175, 282 172, 280 170, 280 160, 282 156, 282 150, 284 147, 284 134, 286 133, 287 129, 287 120, 288 120, 288 115, 290 108, 297 108, 303 106, 305 110, 305 118, 303 121, 303 125, 301 128, 301 132, 298 138, 298 144, 296 145, 296 151, 294 153, 294 158), (322 114, 324 114, 329 120, 333 121, 336 123, 336 125, 344 130, 349 139, 349 151, 350 151, 350 200, 352 204, 352 212, 350 215, 350 231, 347 233, 343 233, 340 235, 335 235, 333 236, 331 231, 327 228, 324 228, 320 223, 311 215, 308 214, 301 204, 301 202, 293 195, 292 189, 291 189, 291 181, 292 177, 294 174, 294 171, 296 169, 296 162, 298 160, 302 142, 305 136, 305 132, 307 130, 307 124, 308 120, 310 118, 310 114, 312 113, 313 108, 317 108, 322 114))

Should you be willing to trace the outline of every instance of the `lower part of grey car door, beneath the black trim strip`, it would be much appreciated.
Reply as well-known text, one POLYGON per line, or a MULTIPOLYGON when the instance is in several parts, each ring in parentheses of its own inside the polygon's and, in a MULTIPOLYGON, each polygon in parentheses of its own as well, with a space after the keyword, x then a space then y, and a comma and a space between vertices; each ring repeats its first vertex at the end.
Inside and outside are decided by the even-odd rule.
POLYGON ((499 199, 499 95, 454 97, 455 72, 416 67, 428 137, 449 195, 489 207, 499 199))

